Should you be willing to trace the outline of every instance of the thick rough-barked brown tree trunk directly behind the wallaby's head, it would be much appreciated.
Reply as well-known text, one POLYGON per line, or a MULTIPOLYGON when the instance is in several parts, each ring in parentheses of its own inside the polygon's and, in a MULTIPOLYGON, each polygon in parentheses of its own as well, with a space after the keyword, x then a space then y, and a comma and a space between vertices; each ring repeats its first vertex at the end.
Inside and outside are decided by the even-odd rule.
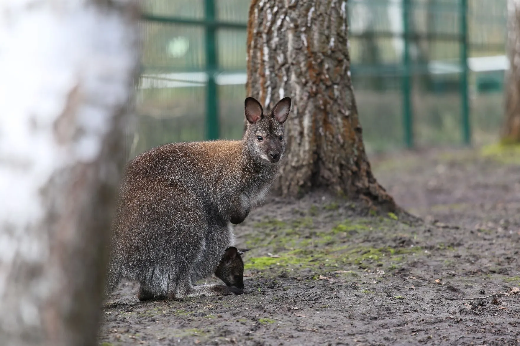
POLYGON ((284 96, 293 99, 276 191, 298 196, 328 188, 395 210, 393 198, 372 175, 362 141, 346 10, 341 0, 253 0, 247 94, 268 108, 284 96))

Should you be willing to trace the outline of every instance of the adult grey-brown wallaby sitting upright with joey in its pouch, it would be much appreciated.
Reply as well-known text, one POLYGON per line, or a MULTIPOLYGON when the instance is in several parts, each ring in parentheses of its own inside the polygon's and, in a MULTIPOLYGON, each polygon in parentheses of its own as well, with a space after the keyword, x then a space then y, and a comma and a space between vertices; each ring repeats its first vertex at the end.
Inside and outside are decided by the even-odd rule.
POLYGON ((241 294, 223 285, 193 286, 210 276, 235 241, 240 223, 277 178, 291 99, 264 115, 245 99, 248 126, 240 141, 172 143, 126 166, 114 221, 106 295, 121 278, 142 297, 241 294))

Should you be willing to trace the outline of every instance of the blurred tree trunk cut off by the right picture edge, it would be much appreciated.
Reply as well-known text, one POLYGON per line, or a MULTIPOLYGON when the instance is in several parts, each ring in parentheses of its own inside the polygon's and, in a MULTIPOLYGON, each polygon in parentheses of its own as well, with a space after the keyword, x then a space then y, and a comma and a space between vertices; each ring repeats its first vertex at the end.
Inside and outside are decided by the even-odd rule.
POLYGON ((520 2, 508 2, 508 55, 511 68, 505 85, 503 139, 520 142, 520 2))

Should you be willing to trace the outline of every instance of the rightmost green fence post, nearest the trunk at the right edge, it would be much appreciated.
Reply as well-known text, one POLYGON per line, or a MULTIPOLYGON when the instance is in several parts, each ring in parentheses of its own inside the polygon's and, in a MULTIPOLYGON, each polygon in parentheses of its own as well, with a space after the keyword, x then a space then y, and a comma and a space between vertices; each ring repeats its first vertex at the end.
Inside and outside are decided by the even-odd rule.
POLYGON ((460 0, 459 8, 460 21, 460 94, 461 94, 461 126, 462 140, 464 144, 471 144, 471 126, 470 126, 470 97, 467 87, 467 78, 469 67, 467 65, 467 0, 460 0))

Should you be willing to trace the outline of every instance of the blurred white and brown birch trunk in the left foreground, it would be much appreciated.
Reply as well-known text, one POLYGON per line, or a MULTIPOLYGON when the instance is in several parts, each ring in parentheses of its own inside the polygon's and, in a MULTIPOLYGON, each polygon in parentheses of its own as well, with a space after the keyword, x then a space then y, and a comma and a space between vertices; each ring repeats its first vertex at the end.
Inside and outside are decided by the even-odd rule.
POLYGON ((94 345, 133 1, 0 3, 0 344, 94 345))

